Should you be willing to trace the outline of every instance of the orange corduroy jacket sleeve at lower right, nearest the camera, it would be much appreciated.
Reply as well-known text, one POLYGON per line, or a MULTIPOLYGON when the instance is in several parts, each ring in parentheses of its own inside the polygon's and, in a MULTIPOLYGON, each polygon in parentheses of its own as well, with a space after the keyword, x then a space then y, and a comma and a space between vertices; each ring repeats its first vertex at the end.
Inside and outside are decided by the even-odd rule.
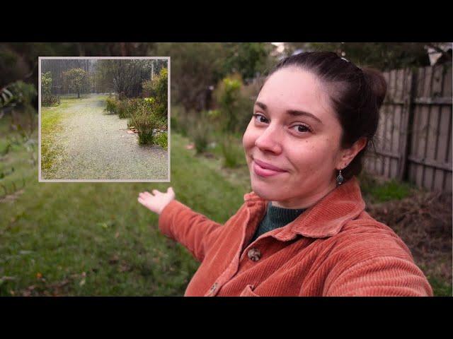
POLYGON ((432 288, 415 263, 380 256, 345 269, 326 286, 325 296, 432 297, 432 288))

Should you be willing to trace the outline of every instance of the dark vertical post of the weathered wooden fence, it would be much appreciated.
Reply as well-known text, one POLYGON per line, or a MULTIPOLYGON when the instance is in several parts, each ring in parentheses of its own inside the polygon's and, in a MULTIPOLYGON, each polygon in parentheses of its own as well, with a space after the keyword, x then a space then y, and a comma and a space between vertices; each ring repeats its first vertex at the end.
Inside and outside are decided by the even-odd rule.
POLYGON ((404 97, 404 106, 403 106, 403 123, 401 124, 400 136, 401 148, 398 161, 398 180, 403 181, 407 177, 407 160, 408 153, 411 151, 410 145, 412 140, 412 124, 413 124, 413 110, 414 110, 414 97, 415 97, 415 85, 417 83, 417 71, 411 69, 409 73, 409 85, 408 93, 404 97))

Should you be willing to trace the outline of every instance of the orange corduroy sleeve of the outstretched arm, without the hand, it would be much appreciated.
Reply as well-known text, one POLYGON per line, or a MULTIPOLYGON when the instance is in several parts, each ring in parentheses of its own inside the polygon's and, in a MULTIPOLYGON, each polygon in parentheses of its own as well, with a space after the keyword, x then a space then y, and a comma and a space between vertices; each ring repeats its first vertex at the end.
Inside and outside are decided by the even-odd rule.
POLYGON ((176 200, 168 203, 159 215, 159 230, 183 244, 200 262, 205 258, 207 244, 212 243, 221 226, 176 200))

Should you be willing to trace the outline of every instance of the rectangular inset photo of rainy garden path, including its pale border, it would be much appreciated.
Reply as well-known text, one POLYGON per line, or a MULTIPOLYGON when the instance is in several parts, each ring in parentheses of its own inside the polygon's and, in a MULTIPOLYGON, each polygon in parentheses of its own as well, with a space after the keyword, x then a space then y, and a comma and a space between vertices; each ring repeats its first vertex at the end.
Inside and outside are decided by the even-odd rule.
POLYGON ((170 182, 170 57, 40 57, 39 182, 170 182))

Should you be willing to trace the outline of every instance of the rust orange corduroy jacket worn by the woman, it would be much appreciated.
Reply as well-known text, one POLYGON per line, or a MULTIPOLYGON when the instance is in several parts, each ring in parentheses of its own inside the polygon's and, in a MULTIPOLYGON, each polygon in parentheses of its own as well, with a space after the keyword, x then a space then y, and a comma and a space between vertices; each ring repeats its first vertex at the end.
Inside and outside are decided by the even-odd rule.
POLYGON ((365 211, 356 177, 249 244, 266 203, 254 192, 224 225, 171 201, 159 229, 200 267, 185 296, 432 296, 411 251, 365 211))

